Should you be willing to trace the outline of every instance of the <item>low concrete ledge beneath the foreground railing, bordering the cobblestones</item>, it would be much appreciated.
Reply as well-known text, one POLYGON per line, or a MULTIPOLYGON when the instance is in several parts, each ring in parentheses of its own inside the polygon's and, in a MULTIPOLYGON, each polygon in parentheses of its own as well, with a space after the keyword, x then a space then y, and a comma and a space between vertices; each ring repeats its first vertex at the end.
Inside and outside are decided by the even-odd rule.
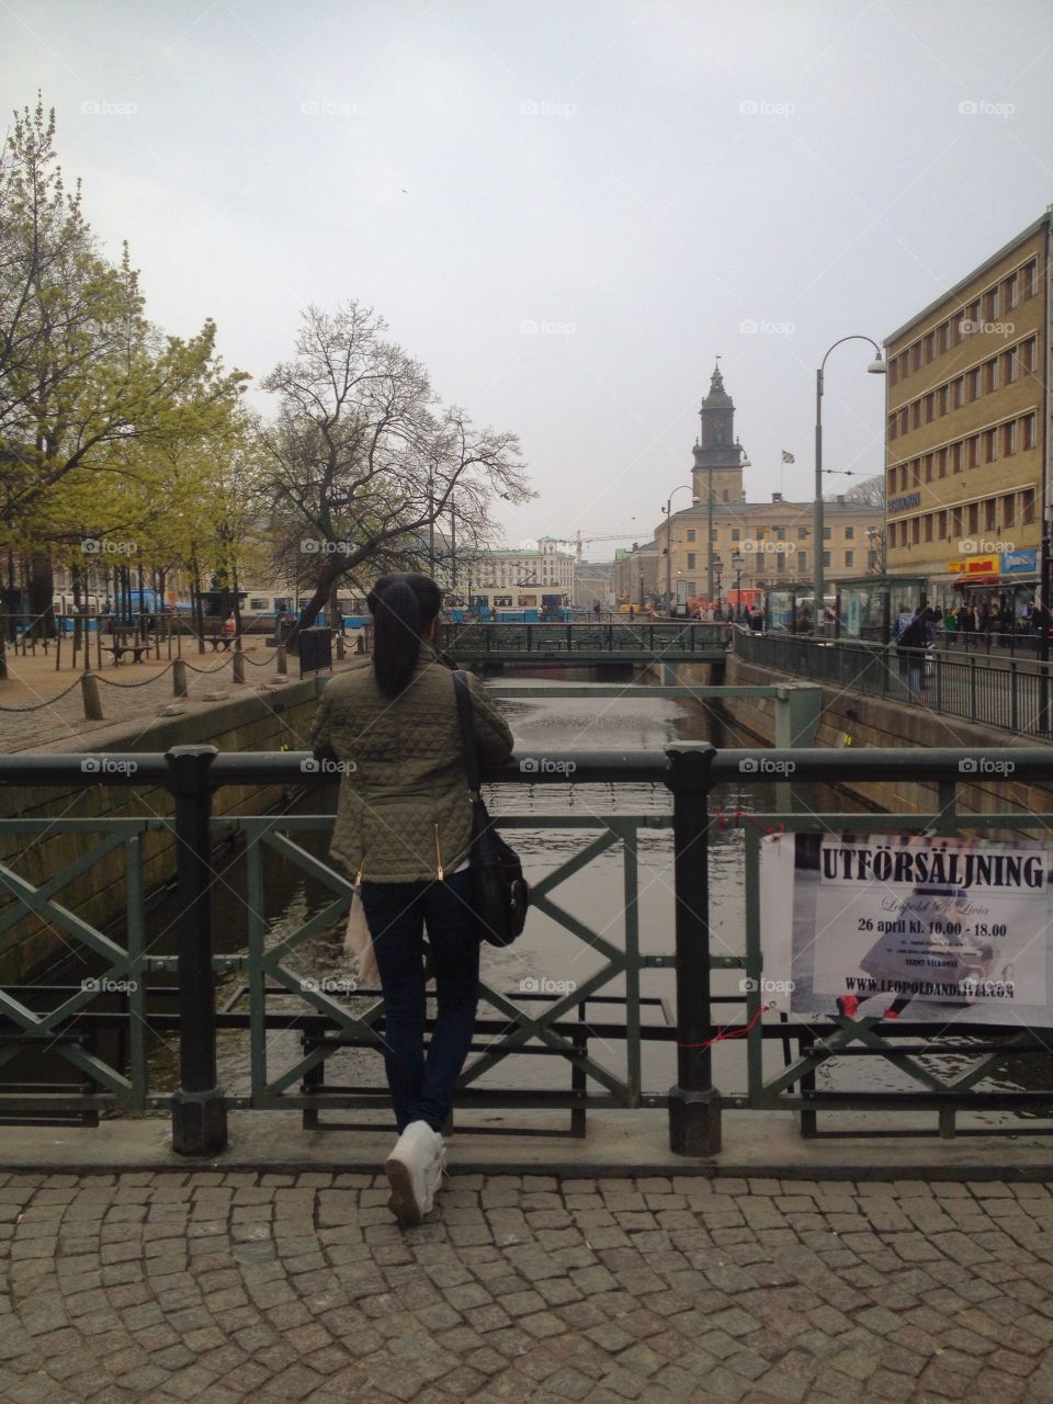
MULTIPOLYGON (((468 1113, 465 1113, 468 1122, 468 1113)), ((665 1112, 598 1111, 584 1139, 559 1134, 552 1112, 486 1113, 455 1130, 449 1141, 452 1175, 556 1175, 630 1178, 699 1175, 841 1181, 1053 1181, 1049 1136, 960 1134, 816 1137, 803 1140, 786 1112, 730 1112, 723 1119, 723 1150, 709 1160, 668 1148, 665 1112), (528 1134, 515 1133, 518 1126, 528 1134)), ((303 1130, 298 1112, 236 1111, 229 1116, 230 1146, 216 1157, 185 1157, 171 1148, 167 1116, 122 1118, 97 1127, 14 1126, 0 1139, 0 1171, 117 1174, 124 1171, 327 1171, 376 1174, 395 1129, 303 1130)))

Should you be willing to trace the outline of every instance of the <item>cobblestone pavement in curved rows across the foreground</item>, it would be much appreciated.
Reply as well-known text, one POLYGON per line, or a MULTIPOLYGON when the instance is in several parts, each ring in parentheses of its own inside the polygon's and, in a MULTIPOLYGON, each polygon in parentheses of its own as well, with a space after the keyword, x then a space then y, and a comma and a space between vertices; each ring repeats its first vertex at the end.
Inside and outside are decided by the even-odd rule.
POLYGON ((1045 1185, 0 1175, 4 1404, 1053 1400, 1045 1185))

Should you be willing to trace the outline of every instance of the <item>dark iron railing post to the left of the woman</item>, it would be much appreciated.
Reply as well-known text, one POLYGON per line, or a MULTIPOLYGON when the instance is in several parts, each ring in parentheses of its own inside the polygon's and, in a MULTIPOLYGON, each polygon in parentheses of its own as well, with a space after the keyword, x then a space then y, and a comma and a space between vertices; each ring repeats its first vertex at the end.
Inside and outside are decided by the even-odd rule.
POLYGON ((167 754, 176 802, 176 936, 180 976, 180 1085, 171 1097, 171 1144, 180 1155, 226 1150, 226 1101, 216 1080, 216 981, 212 972, 209 765, 215 746, 167 754))

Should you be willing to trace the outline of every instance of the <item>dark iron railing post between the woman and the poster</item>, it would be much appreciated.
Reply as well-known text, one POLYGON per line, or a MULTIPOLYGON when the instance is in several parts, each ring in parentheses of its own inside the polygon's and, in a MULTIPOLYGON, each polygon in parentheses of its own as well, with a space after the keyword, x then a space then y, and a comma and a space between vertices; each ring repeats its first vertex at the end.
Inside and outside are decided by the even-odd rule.
POLYGON ((670 1088, 670 1150, 716 1155, 720 1094, 713 1087, 709 1007, 709 807, 712 746, 668 750, 673 790, 677 951, 677 1084, 670 1088))

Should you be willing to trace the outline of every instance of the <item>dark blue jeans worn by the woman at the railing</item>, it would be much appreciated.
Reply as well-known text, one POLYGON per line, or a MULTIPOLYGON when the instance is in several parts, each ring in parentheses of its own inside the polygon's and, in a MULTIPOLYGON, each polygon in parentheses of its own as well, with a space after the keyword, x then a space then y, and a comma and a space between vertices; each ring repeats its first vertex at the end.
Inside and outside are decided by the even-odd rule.
POLYGON ((441 1132, 453 1105, 479 1002, 479 927, 472 875, 444 882, 362 883, 385 1002, 385 1067, 400 1132, 427 1122, 441 1132), (435 1028, 424 1056, 424 927, 435 972, 435 1028))

